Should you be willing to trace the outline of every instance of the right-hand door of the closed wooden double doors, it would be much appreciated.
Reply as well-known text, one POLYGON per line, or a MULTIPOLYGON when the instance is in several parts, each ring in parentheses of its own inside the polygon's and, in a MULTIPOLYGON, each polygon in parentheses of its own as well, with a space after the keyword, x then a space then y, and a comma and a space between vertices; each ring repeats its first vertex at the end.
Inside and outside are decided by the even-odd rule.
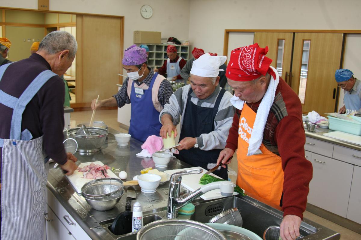
POLYGON ((342 33, 295 33, 289 84, 301 99, 303 113, 335 111, 342 39, 342 33))

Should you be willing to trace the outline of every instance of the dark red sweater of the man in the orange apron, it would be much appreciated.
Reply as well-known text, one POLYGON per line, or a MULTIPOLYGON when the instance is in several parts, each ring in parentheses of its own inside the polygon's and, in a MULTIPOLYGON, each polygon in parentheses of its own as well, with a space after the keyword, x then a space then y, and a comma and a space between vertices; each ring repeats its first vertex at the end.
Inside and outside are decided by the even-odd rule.
MULTIPOLYGON (((257 112, 260 103, 261 101, 247 103, 247 105, 257 112)), ((241 113, 242 110, 236 109, 226 148, 237 149, 238 124, 241 113)), ((305 140, 300 99, 280 78, 267 118, 263 144, 282 159, 284 172, 283 216, 292 214, 302 219, 306 209, 308 185, 312 179, 312 164, 305 158, 305 140)))

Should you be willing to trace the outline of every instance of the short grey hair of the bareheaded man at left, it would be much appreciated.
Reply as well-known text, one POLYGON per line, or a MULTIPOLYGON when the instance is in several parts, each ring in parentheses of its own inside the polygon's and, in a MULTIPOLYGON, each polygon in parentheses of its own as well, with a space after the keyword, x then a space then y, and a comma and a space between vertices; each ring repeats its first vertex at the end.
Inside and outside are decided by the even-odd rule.
POLYGON ((68 58, 73 58, 77 53, 78 44, 75 37, 69 32, 54 31, 44 37, 39 44, 39 51, 45 50, 48 54, 56 54, 69 50, 68 58))

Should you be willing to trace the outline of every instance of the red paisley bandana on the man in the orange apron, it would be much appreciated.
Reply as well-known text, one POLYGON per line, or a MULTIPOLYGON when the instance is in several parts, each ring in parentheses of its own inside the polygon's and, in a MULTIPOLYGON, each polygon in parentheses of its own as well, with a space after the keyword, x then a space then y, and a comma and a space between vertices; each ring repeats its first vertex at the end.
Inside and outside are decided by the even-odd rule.
POLYGON ((252 81, 268 72, 276 78, 270 68, 272 59, 266 57, 268 46, 262 48, 257 43, 233 49, 227 65, 226 77, 234 81, 252 81))

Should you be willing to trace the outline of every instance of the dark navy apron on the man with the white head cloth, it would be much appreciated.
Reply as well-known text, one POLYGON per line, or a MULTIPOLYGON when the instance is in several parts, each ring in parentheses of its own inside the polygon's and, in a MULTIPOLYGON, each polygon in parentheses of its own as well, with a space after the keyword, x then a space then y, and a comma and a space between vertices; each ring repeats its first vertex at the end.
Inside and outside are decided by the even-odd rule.
MULTIPOLYGON (((214 118, 218 113, 219 103, 221 103, 226 90, 221 89, 213 108, 205 108, 192 103, 192 92, 193 90, 190 88, 188 92, 186 110, 182 116, 183 124, 181 135, 179 136, 180 140, 184 139, 184 137, 199 137, 202 133, 210 133, 214 131, 214 118)), ((179 151, 179 155, 175 154, 175 156, 179 160, 182 160, 194 167, 208 169, 208 163, 217 163, 217 158, 221 150, 222 149, 212 149, 204 151, 199 148, 190 148, 188 150, 184 149, 179 151)), ((216 170, 213 173, 228 180, 227 168, 221 167, 221 169, 216 170)))

